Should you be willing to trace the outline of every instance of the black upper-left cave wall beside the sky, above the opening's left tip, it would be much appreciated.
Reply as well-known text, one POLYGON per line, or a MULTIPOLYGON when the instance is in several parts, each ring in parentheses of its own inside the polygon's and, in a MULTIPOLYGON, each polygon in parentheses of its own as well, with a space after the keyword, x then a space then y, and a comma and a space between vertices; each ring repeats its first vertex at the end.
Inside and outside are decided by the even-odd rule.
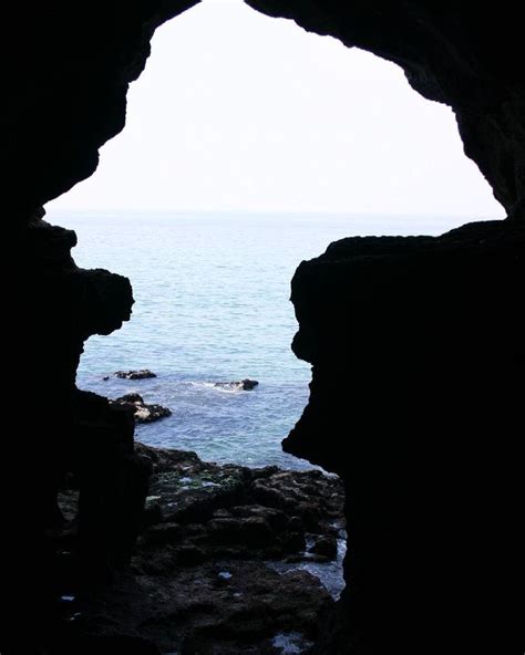
POLYGON ((3 10, 7 103, 1 157, 11 217, 94 173, 99 148, 125 124, 126 93, 155 28, 198 0, 10 3, 3 10))

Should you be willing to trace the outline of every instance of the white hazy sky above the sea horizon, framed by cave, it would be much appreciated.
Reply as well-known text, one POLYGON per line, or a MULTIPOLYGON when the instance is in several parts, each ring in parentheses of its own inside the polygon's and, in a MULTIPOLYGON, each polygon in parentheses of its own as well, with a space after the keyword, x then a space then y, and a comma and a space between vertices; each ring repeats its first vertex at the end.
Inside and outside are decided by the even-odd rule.
POLYGON ((241 0, 157 30, 124 132, 52 208, 503 216, 401 69, 241 0))

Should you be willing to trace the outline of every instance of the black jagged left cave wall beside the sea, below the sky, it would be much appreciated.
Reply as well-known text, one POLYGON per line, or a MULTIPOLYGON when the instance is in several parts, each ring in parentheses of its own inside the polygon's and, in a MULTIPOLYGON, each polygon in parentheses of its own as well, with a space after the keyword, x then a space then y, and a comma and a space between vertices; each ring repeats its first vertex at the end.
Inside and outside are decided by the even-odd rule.
POLYGON ((70 253, 74 232, 48 225, 39 212, 10 239, 16 281, 3 298, 11 315, 6 360, 13 372, 7 394, 19 420, 17 435, 6 439, 0 476, 2 517, 13 534, 2 545, 0 651, 32 653, 54 625, 50 613, 62 564, 48 533, 61 520, 56 492, 64 477, 74 475, 83 489, 84 571, 105 580, 128 559, 147 471, 133 454, 127 417, 105 398, 75 388, 84 341, 130 319, 128 280, 79 269, 70 253), (31 507, 30 519, 22 507, 31 507))

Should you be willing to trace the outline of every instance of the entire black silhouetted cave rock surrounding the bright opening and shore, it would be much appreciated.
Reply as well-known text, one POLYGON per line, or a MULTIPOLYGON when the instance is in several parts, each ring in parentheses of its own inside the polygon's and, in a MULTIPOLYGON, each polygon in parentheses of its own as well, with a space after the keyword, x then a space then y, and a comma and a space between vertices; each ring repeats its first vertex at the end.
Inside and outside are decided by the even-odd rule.
MULTIPOLYGON (((128 415, 75 387, 83 342, 130 318, 131 285, 76 268, 74 233, 47 223, 42 208, 93 174, 99 148, 124 127, 154 30, 195 3, 4 10, 2 157, 16 253, 7 351, 19 423, 2 465, 2 653, 157 652, 133 637, 85 636, 72 647, 79 637, 56 627, 63 580, 50 532, 64 475, 76 471, 85 500, 81 571, 60 574, 103 585, 133 549, 150 470, 128 415)), ((500 652, 516 616, 525 365, 517 9, 247 3, 402 66, 416 92, 453 108, 465 154, 507 212, 441 237, 344 239, 295 274, 292 347, 313 376, 284 448, 341 477, 350 533, 347 590, 313 652, 500 652)))

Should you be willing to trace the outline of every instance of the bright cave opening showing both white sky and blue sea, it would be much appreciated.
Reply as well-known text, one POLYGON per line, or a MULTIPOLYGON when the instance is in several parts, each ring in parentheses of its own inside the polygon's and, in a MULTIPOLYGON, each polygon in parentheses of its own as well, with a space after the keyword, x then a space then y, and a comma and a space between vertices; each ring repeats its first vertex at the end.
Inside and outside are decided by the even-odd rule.
POLYGON ((390 62, 235 0, 177 15, 152 49, 123 134, 95 175, 48 205, 76 231, 78 263, 134 287, 133 320, 89 340, 79 384, 173 409, 138 426, 152 445, 301 466, 280 450, 310 380, 289 347, 300 261, 344 237, 439 233, 501 209, 452 112, 390 62), (140 368, 159 377, 112 375, 140 368), (244 399, 214 387, 250 377, 261 384, 244 399))

